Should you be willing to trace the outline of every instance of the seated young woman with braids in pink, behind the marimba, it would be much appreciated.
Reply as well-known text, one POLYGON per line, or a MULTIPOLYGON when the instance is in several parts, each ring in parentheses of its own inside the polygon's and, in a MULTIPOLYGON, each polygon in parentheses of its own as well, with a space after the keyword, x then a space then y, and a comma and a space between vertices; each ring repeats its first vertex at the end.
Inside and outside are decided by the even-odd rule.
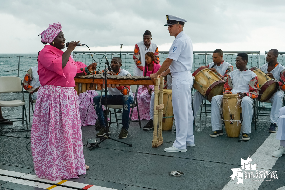
MULTIPOLYGON (((154 53, 147 52, 145 54, 145 66, 143 68, 143 75, 149 77, 150 74, 156 73, 159 70, 160 64, 156 62, 156 57, 154 53)), ((139 87, 137 94, 137 101, 139 105, 140 119, 149 120, 149 108, 150 108, 150 96, 154 90, 154 85, 142 85, 139 87)), ((132 120, 138 120, 137 107, 134 108, 132 120)))

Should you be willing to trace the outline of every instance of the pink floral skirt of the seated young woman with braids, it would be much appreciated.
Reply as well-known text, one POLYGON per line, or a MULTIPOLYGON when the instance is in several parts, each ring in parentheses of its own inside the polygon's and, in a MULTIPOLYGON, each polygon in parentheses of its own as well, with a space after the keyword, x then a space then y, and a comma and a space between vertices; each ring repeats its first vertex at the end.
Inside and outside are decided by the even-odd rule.
MULTIPOLYGON (((149 87, 154 91, 154 85, 149 85, 149 87)), ((148 93, 148 89, 144 87, 144 85, 141 85, 139 87, 137 100, 139 105, 140 119, 149 120, 150 94, 148 93)), ((132 120, 139 120, 137 107, 134 108, 132 120)))

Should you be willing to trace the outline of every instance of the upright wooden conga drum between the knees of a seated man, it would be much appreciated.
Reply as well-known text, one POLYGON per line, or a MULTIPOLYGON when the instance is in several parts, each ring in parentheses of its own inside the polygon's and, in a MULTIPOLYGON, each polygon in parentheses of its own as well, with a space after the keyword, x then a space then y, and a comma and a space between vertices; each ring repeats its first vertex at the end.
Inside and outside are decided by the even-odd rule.
POLYGON ((238 94, 224 94, 222 107, 222 120, 228 137, 239 137, 241 132, 241 99, 238 94))

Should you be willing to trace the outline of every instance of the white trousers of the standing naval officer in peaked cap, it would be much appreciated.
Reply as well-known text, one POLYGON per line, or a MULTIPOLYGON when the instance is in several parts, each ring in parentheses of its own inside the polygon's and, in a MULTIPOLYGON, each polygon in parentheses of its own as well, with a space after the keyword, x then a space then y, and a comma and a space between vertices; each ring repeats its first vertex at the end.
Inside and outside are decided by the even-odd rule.
POLYGON ((186 144, 194 144, 192 85, 193 77, 190 71, 172 73, 172 107, 176 127, 173 146, 180 149, 186 149, 186 144))

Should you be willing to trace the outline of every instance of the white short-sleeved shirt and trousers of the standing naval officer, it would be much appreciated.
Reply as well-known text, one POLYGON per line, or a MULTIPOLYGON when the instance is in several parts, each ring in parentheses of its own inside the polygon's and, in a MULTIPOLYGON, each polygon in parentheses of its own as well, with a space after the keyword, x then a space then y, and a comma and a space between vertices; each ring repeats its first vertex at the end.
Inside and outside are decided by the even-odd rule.
POLYGON ((169 66, 172 75, 172 105, 176 126, 173 146, 186 149, 186 144, 194 145, 193 112, 191 88, 193 77, 190 72, 193 64, 192 41, 184 31, 180 32, 169 50, 169 66))

